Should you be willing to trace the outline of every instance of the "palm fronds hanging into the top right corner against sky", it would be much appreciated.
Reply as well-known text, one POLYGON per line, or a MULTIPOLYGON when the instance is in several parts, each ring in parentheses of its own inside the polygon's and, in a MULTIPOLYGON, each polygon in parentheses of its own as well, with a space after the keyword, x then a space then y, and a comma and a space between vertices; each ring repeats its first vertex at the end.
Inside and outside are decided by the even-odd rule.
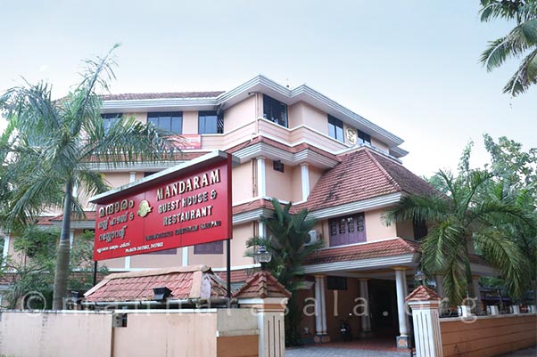
POLYGON ((481 0, 483 22, 504 19, 516 21, 508 35, 491 41, 480 61, 488 71, 500 67, 509 58, 524 57, 503 93, 516 96, 537 83, 537 1, 481 0))

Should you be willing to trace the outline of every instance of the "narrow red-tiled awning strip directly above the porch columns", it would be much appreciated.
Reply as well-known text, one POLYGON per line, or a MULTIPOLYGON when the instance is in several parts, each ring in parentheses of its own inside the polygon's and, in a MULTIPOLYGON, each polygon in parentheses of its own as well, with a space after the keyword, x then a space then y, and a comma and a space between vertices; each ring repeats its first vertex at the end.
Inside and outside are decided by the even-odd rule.
POLYGON ((344 247, 320 249, 318 252, 308 256, 304 265, 351 262, 384 256, 401 256, 417 253, 418 251, 419 242, 417 241, 401 238, 386 239, 344 247))

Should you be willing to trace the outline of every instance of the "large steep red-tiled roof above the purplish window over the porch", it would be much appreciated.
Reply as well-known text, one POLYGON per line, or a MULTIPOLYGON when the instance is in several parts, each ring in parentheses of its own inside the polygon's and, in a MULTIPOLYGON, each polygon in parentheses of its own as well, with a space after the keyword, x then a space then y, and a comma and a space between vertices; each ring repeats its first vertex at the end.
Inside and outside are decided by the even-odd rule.
POLYGON ((396 192, 436 193, 433 186, 416 174, 367 147, 339 158, 341 162, 321 176, 303 205, 310 211, 396 192))

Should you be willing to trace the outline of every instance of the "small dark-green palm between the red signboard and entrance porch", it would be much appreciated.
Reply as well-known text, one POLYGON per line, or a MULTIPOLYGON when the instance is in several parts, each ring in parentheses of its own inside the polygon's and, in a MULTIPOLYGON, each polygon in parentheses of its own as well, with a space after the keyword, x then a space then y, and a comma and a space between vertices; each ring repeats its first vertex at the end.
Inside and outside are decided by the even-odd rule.
POLYGON ((297 345, 300 344, 298 323, 301 312, 294 293, 303 287, 304 260, 322 247, 323 243, 318 240, 310 244, 309 232, 316 221, 307 218, 308 210, 303 209, 293 215, 290 212, 292 203, 282 207, 277 199, 272 199, 272 206, 272 215, 260 217, 260 221, 267 227, 267 237, 256 236, 248 239, 246 246, 251 249, 247 256, 253 256, 255 248, 260 246, 266 247, 272 254, 267 269, 293 294, 285 314, 285 342, 287 345, 297 345))

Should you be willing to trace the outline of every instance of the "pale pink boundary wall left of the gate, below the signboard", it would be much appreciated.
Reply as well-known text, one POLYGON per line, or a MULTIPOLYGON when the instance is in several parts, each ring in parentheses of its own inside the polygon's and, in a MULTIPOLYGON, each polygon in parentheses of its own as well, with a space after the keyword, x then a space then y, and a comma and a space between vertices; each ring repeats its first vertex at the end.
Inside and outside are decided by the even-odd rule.
POLYGON ((258 334, 247 309, 0 312, 10 357, 253 357, 258 334))

